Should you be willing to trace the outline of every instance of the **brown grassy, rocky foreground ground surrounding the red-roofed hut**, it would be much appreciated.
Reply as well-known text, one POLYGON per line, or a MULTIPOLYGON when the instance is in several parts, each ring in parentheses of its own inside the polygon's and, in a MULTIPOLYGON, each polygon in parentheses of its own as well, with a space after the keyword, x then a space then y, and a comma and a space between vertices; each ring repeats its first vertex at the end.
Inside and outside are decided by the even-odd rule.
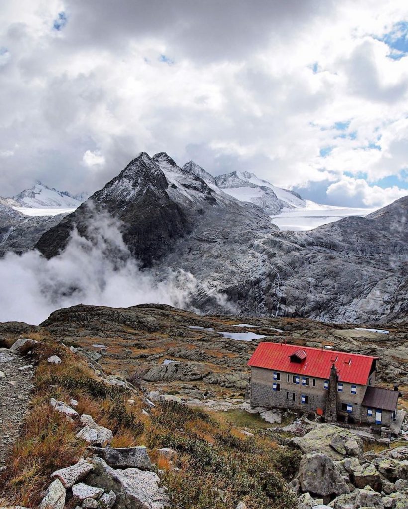
POLYGON ((77 305, 39 326, 0 324, 0 392, 19 403, 17 413, 0 407, 0 421, 14 416, 13 435, 3 437, 0 502, 3 490, 4 503, 40 509, 258 509, 271 503, 403 509, 408 447, 402 438, 375 442, 366 429, 253 409, 244 399, 247 361, 257 344, 290 341, 378 356, 378 382, 399 384, 404 408, 408 328, 395 323, 386 330, 200 316, 158 304, 77 305), (198 479, 203 484, 196 486, 198 479))

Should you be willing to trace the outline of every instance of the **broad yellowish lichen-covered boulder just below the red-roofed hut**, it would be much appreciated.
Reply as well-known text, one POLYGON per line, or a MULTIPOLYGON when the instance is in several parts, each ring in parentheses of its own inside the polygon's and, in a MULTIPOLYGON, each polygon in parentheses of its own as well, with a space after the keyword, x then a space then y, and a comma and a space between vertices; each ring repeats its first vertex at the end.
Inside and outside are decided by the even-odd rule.
POLYGON ((323 424, 304 437, 292 438, 289 444, 300 449, 303 454, 319 453, 332 460, 342 460, 346 456, 363 456, 363 441, 348 430, 323 424))

